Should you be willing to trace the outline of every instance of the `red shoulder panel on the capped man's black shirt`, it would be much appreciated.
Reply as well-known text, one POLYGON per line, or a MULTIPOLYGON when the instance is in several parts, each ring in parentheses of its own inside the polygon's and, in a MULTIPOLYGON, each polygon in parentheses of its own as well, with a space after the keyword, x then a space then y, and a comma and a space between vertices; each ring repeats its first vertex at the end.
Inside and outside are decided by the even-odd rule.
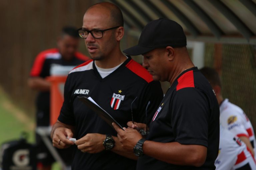
POLYGON ((186 87, 195 87, 193 70, 184 73, 180 78, 178 78, 176 91, 186 87))

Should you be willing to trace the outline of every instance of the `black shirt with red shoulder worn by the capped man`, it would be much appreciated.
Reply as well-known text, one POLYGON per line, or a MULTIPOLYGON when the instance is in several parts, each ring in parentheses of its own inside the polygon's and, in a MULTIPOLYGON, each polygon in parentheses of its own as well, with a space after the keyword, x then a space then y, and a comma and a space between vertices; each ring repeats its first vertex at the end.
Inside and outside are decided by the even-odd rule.
POLYGON ((143 155, 137 169, 215 169, 219 147, 219 105, 206 78, 197 67, 183 71, 160 103, 150 125, 147 140, 179 142, 207 147, 202 167, 169 164, 143 155))

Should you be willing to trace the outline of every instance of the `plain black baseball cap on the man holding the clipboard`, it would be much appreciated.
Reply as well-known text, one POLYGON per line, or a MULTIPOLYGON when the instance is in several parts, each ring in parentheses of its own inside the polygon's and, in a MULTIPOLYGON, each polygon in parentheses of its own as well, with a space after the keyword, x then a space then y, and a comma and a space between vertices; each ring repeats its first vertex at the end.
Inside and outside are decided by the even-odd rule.
POLYGON ((151 21, 143 28, 138 45, 125 49, 123 52, 128 55, 139 55, 155 48, 186 45, 186 36, 178 23, 169 19, 158 19, 151 21))

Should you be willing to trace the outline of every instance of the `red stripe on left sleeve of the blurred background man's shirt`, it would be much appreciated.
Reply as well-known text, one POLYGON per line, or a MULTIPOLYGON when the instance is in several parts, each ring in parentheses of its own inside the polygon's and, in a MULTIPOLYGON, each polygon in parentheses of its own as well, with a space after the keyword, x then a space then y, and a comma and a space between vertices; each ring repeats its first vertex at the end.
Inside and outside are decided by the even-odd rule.
POLYGON ((46 54, 55 53, 55 52, 59 52, 59 50, 57 48, 51 48, 51 49, 47 49, 47 50, 40 52, 36 56, 36 59, 34 61, 32 69, 30 71, 30 76, 32 76, 32 77, 39 76, 42 71, 43 65, 44 65, 46 54))

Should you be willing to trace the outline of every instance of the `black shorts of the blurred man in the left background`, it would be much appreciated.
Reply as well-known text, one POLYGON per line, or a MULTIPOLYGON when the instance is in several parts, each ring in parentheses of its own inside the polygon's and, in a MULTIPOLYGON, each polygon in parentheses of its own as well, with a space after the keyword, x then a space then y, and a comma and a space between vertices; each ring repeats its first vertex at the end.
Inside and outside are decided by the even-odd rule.
MULTIPOLYGON (((52 141, 50 136, 48 137, 50 141, 52 141)), ((47 146, 45 145, 39 134, 36 134, 36 149, 37 163, 41 163, 43 166, 49 166, 56 161, 54 157, 51 155, 51 152, 48 150, 47 146)), ((75 149, 75 145, 72 145, 66 149, 55 149, 57 149, 59 155, 61 156, 66 166, 71 166, 73 150, 75 149)))

